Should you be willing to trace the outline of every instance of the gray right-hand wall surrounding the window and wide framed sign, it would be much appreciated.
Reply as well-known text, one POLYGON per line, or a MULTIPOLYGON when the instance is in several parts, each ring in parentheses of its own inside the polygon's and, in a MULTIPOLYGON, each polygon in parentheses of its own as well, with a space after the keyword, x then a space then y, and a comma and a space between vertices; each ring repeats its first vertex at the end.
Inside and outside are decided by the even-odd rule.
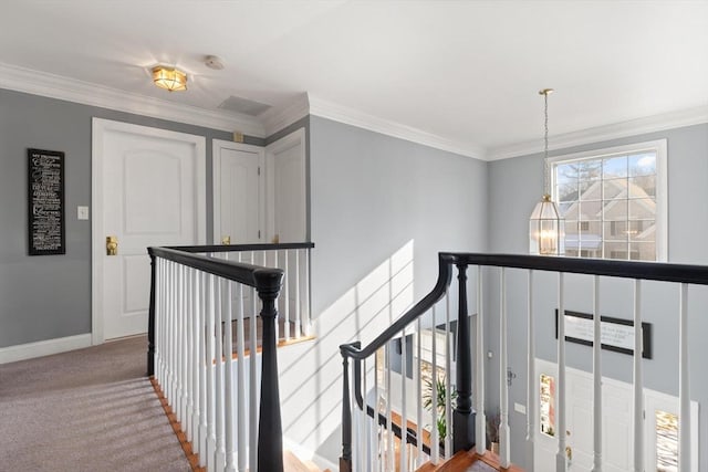
MULTIPOLYGON (((677 263, 708 264, 708 124, 615 139, 581 147, 562 149, 551 156, 590 149, 667 139, 668 144, 668 260, 677 263)), ((489 250, 491 252, 528 252, 528 218, 542 193, 542 156, 531 155, 506 159, 489 165, 489 250)), ((491 271, 490 271, 491 272, 491 271)), ((512 460, 523 464, 525 417, 513 412, 513 402, 525 405, 525 275, 509 271, 509 361, 517 374, 511 391, 512 460), (513 295, 522 294, 519 296, 513 295)), ((487 294, 490 314, 486 337, 494 358, 488 364, 492 374, 487 382, 487 399, 497 401, 498 380, 498 277, 489 279, 487 294), (493 363, 493 364, 492 364, 493 363)), ((554 338, 555 277, 539 274, 537 286, 548 284, 545 296, 537 295, 538 357, 555 361, 554 338)), ((592 300, 589 277, 570 276, 566 282, 566 310, 590 313, 592 300)), ((601 284, 601 313, 621 318, 632 317, 632 287, 627 281, 603 277, 601 284)), ((654 358, 645 360, 644 385, 669 395, 678 395, 678 287, 671 284, 645 283, 643 290, 643 318, 654 324, 654 358)), ((708 438, 708 378, 702 359, 708 355, 708 290, 691 286, 689 292, 689 325, 691 343, 691 399, 700 403, 700 438, 708 438)), ((592 371, 592 350, 568 344, 571 367, 592 371)), ((632 357, 603 352, 603 374, 622 381, 632 381, 632 357)), ((498 401, 497 401, 498 403, 498 401)), ((708 453, 700 453, 700 470, 708 470, 708 453)))

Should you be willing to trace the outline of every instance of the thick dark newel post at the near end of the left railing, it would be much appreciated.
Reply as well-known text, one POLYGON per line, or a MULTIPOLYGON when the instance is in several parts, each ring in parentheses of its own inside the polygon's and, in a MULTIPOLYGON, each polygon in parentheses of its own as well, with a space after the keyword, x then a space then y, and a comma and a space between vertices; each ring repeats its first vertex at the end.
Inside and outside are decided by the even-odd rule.
POLYGON ((283 472, 283 428, 280 417, 280 391, 278 382, 278 354, 275 323, 278 308, 275 301, 282 286, 281 270, 257 270, 253 273, 258 296, 263 302, 261 321, 262 371, 261 406, 258 423, 258 470, 283 472))

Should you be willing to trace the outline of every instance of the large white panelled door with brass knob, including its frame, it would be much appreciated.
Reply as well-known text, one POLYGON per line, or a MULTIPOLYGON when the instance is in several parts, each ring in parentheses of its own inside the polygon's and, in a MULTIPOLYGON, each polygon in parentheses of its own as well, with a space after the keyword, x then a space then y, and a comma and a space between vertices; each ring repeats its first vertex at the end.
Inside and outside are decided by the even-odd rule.
POLYGON ((201 136, 94 118, 94 344, 147 332, 148 247, 206 243, 205 162, 201 136))

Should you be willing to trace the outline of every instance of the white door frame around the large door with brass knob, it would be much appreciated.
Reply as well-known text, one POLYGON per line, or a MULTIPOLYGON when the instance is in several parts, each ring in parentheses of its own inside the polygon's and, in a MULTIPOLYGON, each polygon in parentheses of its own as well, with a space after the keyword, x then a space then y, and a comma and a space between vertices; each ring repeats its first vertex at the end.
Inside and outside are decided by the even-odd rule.
POLYGON ((103 251, 105 251, 103 229, 103 141, 107 133, 127 133, 168 140, 191 144, 195 147, 195 196, 197 207, 197 243, 207 240, 206 201, 206 138, 187 133, 153 128, 104 118, 92 118, 91 138, 91 342, 93 345, 105 342, 103 319, 103 251))

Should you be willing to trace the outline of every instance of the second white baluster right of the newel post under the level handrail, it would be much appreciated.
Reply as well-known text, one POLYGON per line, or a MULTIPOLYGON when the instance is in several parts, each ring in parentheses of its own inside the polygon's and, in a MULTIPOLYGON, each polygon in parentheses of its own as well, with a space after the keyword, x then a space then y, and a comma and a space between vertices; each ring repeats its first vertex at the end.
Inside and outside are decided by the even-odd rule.
POLYGON ((507 270, 501 268, 499 317, 499 465, 508 468, 511 462, 510 431, 509 431, 509 384, 507 382, 507 270))

